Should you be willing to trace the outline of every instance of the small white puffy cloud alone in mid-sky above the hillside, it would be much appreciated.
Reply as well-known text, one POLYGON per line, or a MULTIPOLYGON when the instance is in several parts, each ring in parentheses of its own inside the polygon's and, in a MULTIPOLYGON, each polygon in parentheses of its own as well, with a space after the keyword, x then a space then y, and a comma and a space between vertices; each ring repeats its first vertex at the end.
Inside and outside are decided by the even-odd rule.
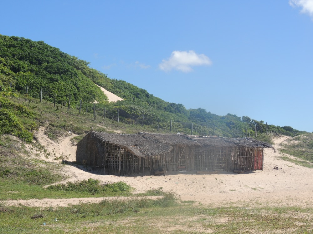
POLYGON ((171 56, 166 60, 163 59, 159 64, 159 68, 163 71, 190 72, 192 66, 211 65, 211 60, 204 54, 196 54, 195 51, 173 51, 171 56))

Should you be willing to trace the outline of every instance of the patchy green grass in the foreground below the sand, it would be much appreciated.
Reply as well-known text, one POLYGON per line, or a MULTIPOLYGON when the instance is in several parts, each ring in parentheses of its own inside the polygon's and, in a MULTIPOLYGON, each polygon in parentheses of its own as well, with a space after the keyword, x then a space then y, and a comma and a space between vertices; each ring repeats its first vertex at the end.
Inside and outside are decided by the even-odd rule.
POLYGON ((166 194, 60 208, 0 205, 0 233, 313 233, 312 208, 190 203, 166 194))

